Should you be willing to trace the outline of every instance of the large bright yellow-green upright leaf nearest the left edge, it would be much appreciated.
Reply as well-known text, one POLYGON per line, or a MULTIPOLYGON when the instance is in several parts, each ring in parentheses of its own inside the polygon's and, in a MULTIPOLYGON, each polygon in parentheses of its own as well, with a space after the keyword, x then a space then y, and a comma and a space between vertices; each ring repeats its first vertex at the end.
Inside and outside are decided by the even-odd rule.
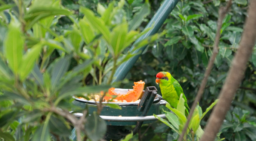
POLYGON ((4 39, 5 53, 10 69, 17 74, 22 61, 24 39, 19 23, 12 20, 8 28, 9 31, 4 39))

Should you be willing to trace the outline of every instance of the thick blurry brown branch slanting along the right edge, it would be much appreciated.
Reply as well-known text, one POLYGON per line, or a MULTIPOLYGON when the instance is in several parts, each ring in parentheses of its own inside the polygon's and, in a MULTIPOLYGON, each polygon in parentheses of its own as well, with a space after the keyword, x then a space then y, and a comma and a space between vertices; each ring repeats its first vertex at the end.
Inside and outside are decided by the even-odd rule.
POLYGON ((239 48, 232 61, 228 76, 219 94, 219 102, 210 115, 205 132, 200 141, 213 141, 225 119, 231 102, 235 96, 246 70, 247 61, 252 54, 256 41, 256 0, 250 1, 248 16, 244 26, 244 32, 240 41, 239 48))

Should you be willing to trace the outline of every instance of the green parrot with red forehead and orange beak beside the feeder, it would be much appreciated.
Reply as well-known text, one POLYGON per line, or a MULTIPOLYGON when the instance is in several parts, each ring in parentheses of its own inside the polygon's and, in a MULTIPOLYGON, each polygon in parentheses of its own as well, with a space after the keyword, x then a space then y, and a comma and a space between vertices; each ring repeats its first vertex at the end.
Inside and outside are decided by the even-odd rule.
POLYGON ((183 93, 182 87, 179 82, 172 77, 168 72, 161 71, 157 73, 155 83, 159 84, 163 99, 165 99, 173 108, 177 108, 179 96, 181 93, 185 100, 184 106, 186 107, 185 115, 188 116, 188 103, 186 103, 186 96, 183 93))

